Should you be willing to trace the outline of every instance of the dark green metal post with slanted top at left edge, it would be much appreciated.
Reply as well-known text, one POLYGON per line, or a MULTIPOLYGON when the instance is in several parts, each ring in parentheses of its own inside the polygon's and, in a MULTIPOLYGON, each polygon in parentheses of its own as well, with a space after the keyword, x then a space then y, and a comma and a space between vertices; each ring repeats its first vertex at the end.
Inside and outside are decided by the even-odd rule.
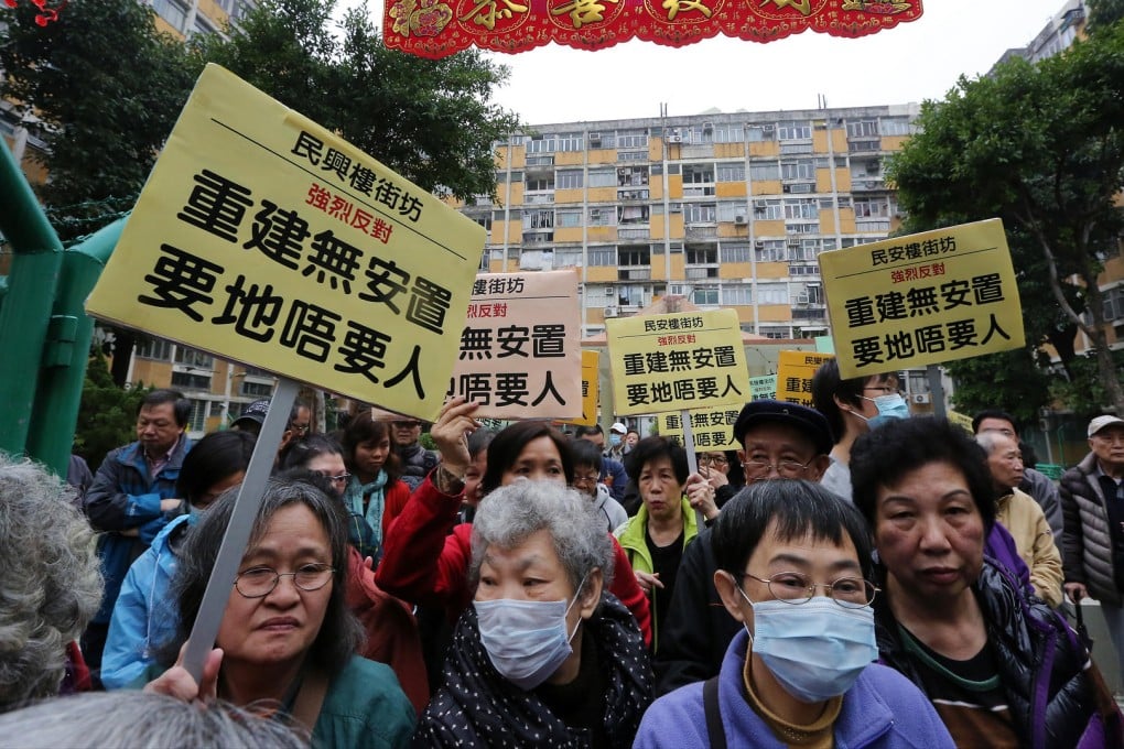
POLYGON ((0 450, 26 449, 62 243, 7 145, 0 148, 0 231, 13 255, 0 305, 0 450))

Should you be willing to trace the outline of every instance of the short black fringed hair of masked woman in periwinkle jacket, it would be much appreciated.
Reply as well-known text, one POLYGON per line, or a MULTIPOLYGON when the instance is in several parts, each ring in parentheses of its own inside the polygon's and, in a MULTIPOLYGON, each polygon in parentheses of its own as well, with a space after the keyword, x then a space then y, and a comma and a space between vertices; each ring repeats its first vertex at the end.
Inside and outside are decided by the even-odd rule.
POLYGON ((816 482, 779 478, 753 482, 726 502, 710 530, 719 569, 740 576, 771 522, 782 541, 812 533, 843 546, 844 533, 859 555, 862 576, 873 573, 870 527, 859 511, 816 482))

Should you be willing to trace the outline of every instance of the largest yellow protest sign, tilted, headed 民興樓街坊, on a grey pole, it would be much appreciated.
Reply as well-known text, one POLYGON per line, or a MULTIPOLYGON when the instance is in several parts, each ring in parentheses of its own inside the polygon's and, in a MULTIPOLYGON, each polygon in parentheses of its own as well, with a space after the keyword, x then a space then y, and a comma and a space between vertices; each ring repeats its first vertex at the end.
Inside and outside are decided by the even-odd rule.
POLYGON ((87 310, 433 419, 483 243, 475 222, 208 65, 87 310))

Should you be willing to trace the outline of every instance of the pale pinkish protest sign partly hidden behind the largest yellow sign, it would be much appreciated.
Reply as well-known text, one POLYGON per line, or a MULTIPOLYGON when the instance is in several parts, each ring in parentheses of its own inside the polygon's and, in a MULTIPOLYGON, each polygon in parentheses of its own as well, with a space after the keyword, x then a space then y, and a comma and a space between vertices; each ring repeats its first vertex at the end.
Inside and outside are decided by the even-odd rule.
POLYGON ((450 392, 480 403, 481 417, 580 417, 578 274, 478 275, 450 392))

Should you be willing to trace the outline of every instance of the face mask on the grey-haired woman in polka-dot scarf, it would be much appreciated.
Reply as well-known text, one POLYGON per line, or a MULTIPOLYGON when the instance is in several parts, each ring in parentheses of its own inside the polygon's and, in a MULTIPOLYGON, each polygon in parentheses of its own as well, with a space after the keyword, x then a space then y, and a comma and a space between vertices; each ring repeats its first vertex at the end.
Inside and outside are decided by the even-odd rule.
MULTIPOLYGON (((586 584, 582 578, 578 594, 586 584)), ((523 689, 534 689, 556 672, 573 652, 565 618, 578 601, 475 601, 480 642, 496 670, 523 689)), ((578 621, 581 624, 581 620, 578 621)))

